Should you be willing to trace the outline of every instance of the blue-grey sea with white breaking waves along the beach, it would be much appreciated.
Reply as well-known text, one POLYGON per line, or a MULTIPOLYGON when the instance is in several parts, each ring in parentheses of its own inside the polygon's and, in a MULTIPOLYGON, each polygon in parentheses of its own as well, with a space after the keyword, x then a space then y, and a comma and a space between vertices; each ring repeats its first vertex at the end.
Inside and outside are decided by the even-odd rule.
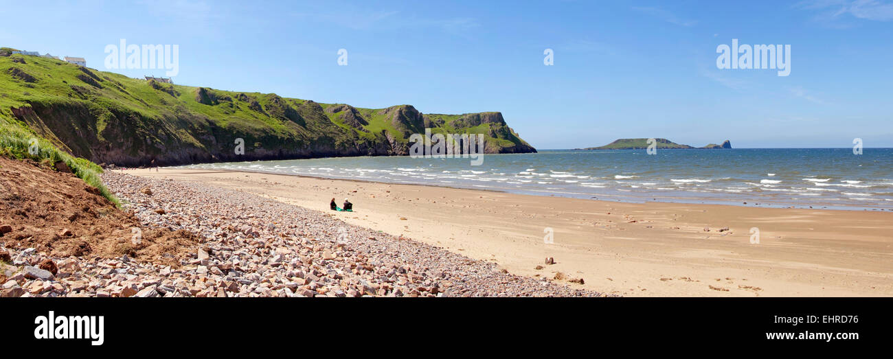
POLYGON ((893 211, 893 148, 543 150, 469 158, 332 157, 179 168, 445 186, 631 203, 893 211))

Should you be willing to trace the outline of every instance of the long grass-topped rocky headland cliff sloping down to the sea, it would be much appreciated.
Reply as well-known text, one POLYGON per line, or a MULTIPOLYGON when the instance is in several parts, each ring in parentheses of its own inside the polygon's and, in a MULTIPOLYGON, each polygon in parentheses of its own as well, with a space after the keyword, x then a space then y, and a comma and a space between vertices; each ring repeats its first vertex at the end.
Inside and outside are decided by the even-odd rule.
POLYGON ((318 104, 129 79, 34 56, 0 57, 0 94, 0 116, 71 154, 121 166, 405 155, 409 136, 426 128, 484 134, 488 154, 536 152, 501 113, 318 104), (238 138, 244 154, 236 153, 238 138))

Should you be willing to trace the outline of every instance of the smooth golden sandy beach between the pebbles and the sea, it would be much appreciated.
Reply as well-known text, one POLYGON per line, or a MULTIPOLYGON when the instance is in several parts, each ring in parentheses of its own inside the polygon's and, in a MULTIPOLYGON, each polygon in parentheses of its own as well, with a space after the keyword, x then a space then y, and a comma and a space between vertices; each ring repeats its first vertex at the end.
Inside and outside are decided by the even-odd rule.
POLYGON ((893 296, 893 213, 613 203, 241 171, 126 172, 325 211, 513 274, 581 278, 569 285, 605 294, 893 296), (331 212, 332 197, 338 204, 349 197, 355 212, 331 212), (552 244, 544 240, 549 229, 552 244))

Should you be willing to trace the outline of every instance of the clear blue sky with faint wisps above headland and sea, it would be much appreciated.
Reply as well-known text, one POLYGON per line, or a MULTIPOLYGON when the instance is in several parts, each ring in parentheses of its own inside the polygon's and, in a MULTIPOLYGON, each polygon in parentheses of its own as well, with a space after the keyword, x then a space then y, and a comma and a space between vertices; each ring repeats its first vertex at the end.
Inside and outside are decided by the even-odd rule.
POLYGON ((4 13, 30 14, 4 18, 0 46, 80 56, 105 71, 104 48, 121 38, 178 45, 179 84, 499 111, 541 149, 649 137, 893 146, 889 0, 39 3, 0 2, 4 13), (790 45, 790 75, 717 69, 716 47, 732 38, 790 45))

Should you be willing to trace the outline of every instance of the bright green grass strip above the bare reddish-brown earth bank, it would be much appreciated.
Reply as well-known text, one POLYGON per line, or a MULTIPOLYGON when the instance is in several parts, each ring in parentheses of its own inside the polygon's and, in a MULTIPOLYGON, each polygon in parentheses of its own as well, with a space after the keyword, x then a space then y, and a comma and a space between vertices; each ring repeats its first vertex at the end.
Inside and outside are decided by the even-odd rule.
POLYGON ((114 205, 121 205, 118 198, 105 188, 102 179, 99 178, 103 169, 96 163, 67 154, 46 139, 39 138, 23 128, 21 124, 3 118, 0 118, 0 155, 17 160, 30 159, 51 168, 54 168, 55 163, 63 162, 75 176, 83 179, 88 185, 98 188, 99 192, 114 205), (37 142, 33 142, 35 140, 37 142), (36 154, 29 151, 32 144, 35 145, 36 154))

